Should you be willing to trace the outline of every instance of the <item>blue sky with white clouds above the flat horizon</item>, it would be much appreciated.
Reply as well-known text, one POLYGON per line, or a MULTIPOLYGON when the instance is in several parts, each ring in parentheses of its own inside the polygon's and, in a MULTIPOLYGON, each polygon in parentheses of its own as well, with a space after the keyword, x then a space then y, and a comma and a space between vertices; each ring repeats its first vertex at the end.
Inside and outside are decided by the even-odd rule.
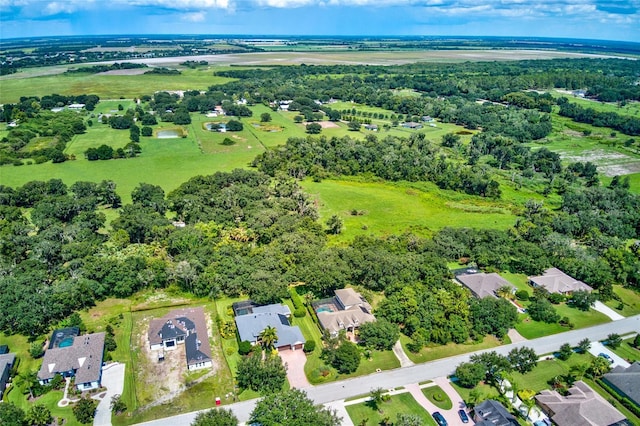
POLYGON ((113 34, 640 42, 640 0, 0 0, 0 39, 113 34))

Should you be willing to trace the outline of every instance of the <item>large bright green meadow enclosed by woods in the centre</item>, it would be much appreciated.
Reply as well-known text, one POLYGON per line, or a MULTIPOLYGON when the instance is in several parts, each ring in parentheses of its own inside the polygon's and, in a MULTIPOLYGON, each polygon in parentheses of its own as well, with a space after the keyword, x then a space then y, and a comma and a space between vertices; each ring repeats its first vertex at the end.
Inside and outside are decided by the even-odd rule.
POLYGON ((445 226, 507 229, 515 216, 480 197, 443 191, 435 185, 358 182, 355 180, 311 180, 302 182, 316 198, 321 221, 338 215, 344 230, 337 238, 351 240, 357 235, 391 235, 413 232, 430 235, 445 226), (357 214, 353 214, 357 211, 357 214))

